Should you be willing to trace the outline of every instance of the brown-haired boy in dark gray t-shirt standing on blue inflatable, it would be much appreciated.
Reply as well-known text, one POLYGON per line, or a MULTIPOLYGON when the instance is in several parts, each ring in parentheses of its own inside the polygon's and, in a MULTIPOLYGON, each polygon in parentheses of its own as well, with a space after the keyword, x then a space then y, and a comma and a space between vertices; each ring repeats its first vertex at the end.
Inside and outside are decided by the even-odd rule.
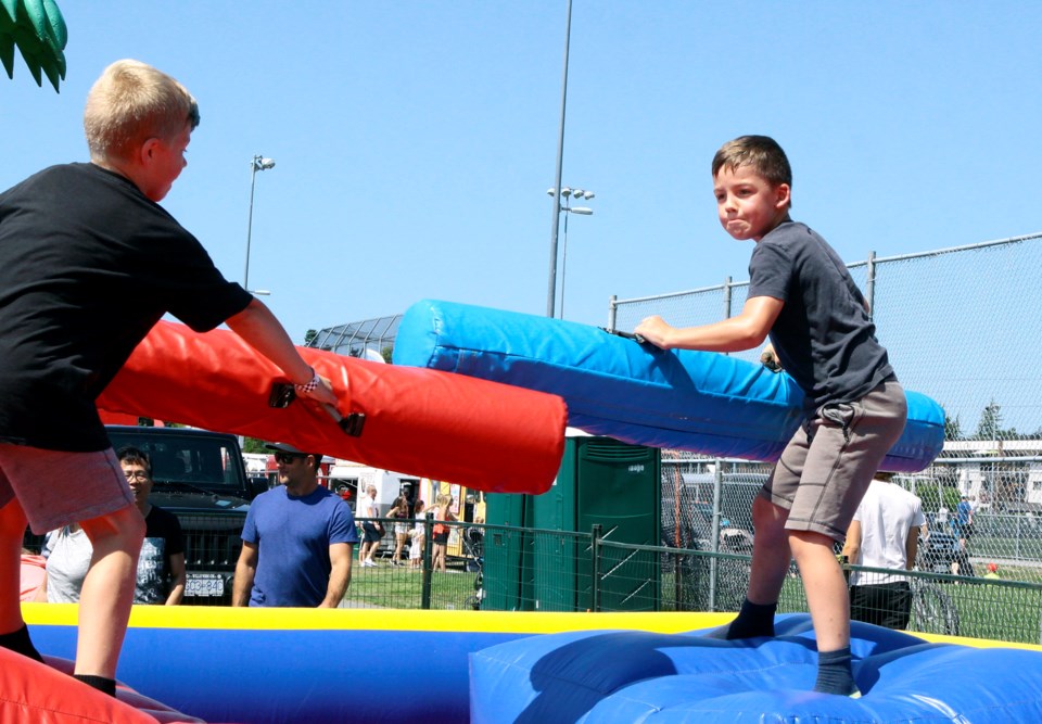
POLYGON ((752 239, 741 313, 677 329, 661 317, 636 333, 663 350, 737 352, 770 333, 782 367, 805 393, 805 420, 753 503, 749 592, 730 625, 712 635, 774 635, 774 612, 790 559, 806 590, 818 648, 816 691, 855 695, 850 610, 833 554, 890 446, 904 429, 904 391, 876 341, 868 305, 825 240, 789 218, 792 172, 765 136, 725 143, 713 157, 720 221, 752 239))

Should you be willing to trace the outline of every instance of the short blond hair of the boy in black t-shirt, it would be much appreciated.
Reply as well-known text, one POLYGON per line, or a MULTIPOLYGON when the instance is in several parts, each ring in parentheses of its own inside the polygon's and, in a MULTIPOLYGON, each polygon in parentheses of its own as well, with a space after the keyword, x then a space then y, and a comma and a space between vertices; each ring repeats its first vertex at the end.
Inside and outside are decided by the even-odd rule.
POLYGON ((140 61, 116 61, 87 94, 84 130, 92 158, 129 158, 150 138, 199 125, 199 104, 177 80, 140 61))

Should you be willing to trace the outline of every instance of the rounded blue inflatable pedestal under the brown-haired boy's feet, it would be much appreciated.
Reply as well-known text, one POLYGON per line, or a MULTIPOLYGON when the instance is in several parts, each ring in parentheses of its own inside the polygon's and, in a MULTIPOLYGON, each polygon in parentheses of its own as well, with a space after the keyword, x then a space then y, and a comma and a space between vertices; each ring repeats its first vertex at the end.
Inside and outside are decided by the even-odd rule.
MULTIPOLYGON (((551 634, 470 659, 471 724, 1008 724, 1042 721, 1042 653, 929 644, 854 622, 857 699, 815 694, 810 617, 776 638, 551 634), (1001 677, 1001 678, 994 678, 1001 677)), ((702 632, 703 633, 703 632, 702 632)))

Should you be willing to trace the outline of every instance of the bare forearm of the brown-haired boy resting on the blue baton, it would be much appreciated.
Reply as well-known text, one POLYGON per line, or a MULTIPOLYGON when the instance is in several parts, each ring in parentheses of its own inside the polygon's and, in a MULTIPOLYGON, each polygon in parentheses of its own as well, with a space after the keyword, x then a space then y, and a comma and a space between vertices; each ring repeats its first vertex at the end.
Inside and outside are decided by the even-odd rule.
POLYGON ((738 316, 712 325, 678 329, 653 316, 644 319, 634 332, 663 350, 739 352, 766 339, 784 304, 772 296, 753 296, 746 301, 738 316))

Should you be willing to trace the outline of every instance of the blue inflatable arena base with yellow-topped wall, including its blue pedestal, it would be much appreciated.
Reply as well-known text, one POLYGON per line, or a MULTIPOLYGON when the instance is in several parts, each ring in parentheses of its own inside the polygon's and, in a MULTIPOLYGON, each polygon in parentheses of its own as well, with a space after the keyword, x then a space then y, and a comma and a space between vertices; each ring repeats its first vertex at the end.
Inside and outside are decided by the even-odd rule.
MULTIPOLYGON (((23 611, 42 652, 75 656, 76 606, 23 611)), ((229 724, 1042 721, 1042 647, 854 622, 864 696, 849 699, 811 691, 806 614, 779 615, 770 640, 690 633, 732 618, 135 606, 116 673, 186 716, 229 724)), ((39 664, 22 665, 22 681, 39 682, 39 664)), ((0 682, 0 698, 16 694, 0 682)))

